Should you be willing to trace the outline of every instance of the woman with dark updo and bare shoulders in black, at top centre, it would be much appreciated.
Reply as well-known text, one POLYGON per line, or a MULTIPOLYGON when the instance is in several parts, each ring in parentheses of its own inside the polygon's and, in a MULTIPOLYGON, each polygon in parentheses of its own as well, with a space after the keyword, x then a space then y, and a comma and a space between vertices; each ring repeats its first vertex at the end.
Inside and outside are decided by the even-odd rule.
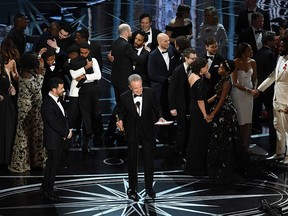
POLYGON ((190 41, 192 38, 192 22, 190 20, 190 6, 180 4, 177 8, 176 17, 166 25, 166 34, 170 38, 170 42, 174 45, 176 37, 186 36, 190 41))

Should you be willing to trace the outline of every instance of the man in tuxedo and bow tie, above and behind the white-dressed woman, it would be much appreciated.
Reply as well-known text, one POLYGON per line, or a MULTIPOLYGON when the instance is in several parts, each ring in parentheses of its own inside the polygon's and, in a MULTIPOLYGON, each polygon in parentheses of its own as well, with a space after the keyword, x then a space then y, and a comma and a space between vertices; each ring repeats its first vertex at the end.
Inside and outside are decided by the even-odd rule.
POLYGON ((241 42, 248 43, 253 50, 253 58, 257 51, 262 47, 262 37, 265 33, 263 30, 264 16, 260 12, 255 12, 251 16, 251 26, 243 30, 238 38, 237 45, 241 42))

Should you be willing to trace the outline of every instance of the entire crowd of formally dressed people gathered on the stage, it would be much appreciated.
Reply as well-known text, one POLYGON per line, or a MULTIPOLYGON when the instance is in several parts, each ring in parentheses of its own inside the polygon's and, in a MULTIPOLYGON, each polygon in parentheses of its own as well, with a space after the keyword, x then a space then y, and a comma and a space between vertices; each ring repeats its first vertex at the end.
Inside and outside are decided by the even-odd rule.
POLYGON ((41 190, 46 198, 59 201, 53 185, 63 148, 51 142, 62 145, 72 130, 73 137, 82 131, 82 151, 91 153, 103 139, 113 144, 118 127, 125 130, 128 146, 130 199, 138 199, 139 145, 146 193, 156 196, 152 182, 157 141, 175 147, 186 173, 233 183, 248 177, 251 132, 264 104, 275 152, 270 159, 288 164, 288 22, 281 22, 276 36, 256 0, 246 0, 246 5, 236 24, 233 60, 227 59, 225 27, 213 6, 205 8, 197 37, 187 5, 179 5, 165 33, 152 28, 152 18, 145 13, 133 33, 127 23, 120 24, 119 38, 107 56, 116 106, 105 134, 99 111, 99 44, 89 40, 87 29, 73 30, 67 23, 52 22, 39 37, 27 36, 26 16, 15 15, 14 27, 1 44, 0 163, 12 172, 45 169, 41 190), (202 52, 191 47, 192 37, 202 52), (26 43, 33 43, 32 50, 25 50, 26 43), (270 87, 274 83, 275 90, 270 87), (63 118, 61 124, 55 118, 63 118), (157 121, 165 126, 155 126, 157 121))

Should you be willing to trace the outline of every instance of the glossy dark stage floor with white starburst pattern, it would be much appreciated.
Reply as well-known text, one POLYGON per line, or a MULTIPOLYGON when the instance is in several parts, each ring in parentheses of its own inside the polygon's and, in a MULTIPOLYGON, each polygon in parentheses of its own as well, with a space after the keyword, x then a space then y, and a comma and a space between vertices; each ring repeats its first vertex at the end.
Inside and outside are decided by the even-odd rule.
MULTIPOLYGON (((42 170, 15 174, 1 168, 0 215, 264 215, 261 201, 288 212, 287 169, 265 160, 266 137, 254 138, 251 158, 264 163, 267 179, 251 179, 234 185, 217 185, 207 177, 183 173, 183 163, 174 148, 158 144, 155 151, 156 199, 145 197, 143 163, 139 160, 139 201, 126 195, 126 146, 94 148, 83 154, 71 148, 63 155, 55 186, 61 203, 43 200, 39 191, 42 170)), ((285 215, 285 214, 284 214, 285 215)))

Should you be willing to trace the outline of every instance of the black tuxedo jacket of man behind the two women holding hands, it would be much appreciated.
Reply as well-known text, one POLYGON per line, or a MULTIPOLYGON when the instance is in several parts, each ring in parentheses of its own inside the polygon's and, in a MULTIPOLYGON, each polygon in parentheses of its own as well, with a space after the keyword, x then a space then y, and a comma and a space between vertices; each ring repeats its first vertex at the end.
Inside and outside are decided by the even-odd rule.
MULTIPOLYGON (((203 58, 208 59, 207 52, 202 55, 203 58)), ((207 84, 207 98, 209 99, 215 94, 215 86, 216 84, 220 81, 221 75, 218 74, 218 69, 220 67, 220 64, 224 61, 225 59, 216 53, 216 55, 213 58, 212 64, 209 68, 209 73, 211 74, 210 79, 204 78, 205 83, 207 84)))

